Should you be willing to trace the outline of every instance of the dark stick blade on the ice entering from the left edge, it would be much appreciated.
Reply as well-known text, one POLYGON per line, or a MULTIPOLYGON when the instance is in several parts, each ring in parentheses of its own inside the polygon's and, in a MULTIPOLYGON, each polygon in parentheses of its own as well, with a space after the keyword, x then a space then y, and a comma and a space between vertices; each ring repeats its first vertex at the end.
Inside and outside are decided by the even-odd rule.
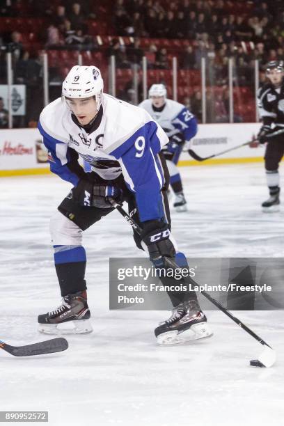
POLYGON ((65 338, 55 338, 24 346, 11 346, 0 340, 0 349, 14 356, 53 354, 54 352, 65 351, 67 348, 68 341, 65 338))

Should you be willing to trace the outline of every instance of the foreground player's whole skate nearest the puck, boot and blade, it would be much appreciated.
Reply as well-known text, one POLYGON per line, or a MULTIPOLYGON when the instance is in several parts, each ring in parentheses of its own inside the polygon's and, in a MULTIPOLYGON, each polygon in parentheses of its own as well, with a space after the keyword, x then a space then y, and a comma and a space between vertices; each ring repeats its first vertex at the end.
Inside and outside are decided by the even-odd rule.
POLYGON ((177 345, 212 336, 207 318, 195 299, 180 303, 169 319, 155 329, 158 345, 177 345))

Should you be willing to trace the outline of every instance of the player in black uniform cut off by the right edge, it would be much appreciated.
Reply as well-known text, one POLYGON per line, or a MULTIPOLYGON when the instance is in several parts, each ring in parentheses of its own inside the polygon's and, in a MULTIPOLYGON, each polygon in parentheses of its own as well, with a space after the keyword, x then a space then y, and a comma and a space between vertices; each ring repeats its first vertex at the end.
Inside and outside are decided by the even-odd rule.
POLYGON ((279 173, 278 166, 284 154, 284 63, 271 61, 267 64, 266 75, 269 83, 258 90, 258 109, 262 118, 262 127, 258 141, 266 143, 265 171, 269 198, 262 203, 265 212, 279 210, 279 173), (275 136, 274 136, 275 135, 275 136))

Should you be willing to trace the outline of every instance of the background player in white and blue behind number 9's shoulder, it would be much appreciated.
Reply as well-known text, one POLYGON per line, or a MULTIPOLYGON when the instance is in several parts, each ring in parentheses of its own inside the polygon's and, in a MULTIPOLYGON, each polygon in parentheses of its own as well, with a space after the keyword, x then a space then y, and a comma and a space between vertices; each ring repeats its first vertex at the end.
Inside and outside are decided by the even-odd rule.
POLYGON ((170 184, 175 194, 173 207, 178 212, 187 210, 182 180, 178 171, 178 160, 184 146, 196 135, 197 120, 184 105, 167 99, 164 84, 153 84, 149 90, 149 99, 141 102, 139 107, 145 109, 150 116, 164 129, 168 135, 168 143, 162 148, 170 172, 170 184))

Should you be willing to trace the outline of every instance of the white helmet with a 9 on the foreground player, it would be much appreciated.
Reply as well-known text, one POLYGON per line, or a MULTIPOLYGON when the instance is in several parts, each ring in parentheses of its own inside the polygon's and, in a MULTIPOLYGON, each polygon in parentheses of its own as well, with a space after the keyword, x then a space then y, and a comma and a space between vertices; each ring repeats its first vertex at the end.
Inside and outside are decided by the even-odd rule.
POLYGON ((70 98, 95 96, 97 111, 102 103, 104 81, 100 70, 93 65, 75 65, 68 72, 62 84, 62 95, 70 98))

